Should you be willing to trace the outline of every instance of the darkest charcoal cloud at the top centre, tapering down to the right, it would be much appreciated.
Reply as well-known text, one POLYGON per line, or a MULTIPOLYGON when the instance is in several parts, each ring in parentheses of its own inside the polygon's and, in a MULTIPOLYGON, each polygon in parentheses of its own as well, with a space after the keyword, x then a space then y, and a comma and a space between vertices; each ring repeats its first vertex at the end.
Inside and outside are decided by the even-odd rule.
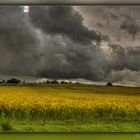
POLYGON ((99 40, 94 30, 83 25, 83 17, 70 6, 30 7, 29 16, 36 28, 43 32, 66 35, 76 43, 89 44, 99 40))

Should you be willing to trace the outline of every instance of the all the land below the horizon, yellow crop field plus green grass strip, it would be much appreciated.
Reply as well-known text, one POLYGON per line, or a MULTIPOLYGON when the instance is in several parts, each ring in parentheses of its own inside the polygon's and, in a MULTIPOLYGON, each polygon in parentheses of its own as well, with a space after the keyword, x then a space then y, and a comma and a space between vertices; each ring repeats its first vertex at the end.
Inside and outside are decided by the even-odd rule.
POLYGON ((83 84, 0 86, 0 131, 140 132, 140 89, 83 84))

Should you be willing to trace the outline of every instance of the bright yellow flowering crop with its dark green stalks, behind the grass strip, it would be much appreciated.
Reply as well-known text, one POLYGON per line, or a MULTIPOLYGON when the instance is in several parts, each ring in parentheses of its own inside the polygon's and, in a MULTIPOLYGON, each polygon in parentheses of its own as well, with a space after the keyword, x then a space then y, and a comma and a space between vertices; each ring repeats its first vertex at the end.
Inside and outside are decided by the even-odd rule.
POLYGON ((17 119, 127 119, 140 118, 140 96, 100 94, 82 90, 3 86, 0 115, 17 119))

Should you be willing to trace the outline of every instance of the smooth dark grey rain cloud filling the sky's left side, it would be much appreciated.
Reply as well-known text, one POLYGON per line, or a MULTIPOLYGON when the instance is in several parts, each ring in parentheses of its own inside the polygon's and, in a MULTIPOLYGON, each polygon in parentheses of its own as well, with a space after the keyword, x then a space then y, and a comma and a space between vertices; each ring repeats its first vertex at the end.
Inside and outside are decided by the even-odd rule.
POLYGON ((0 6, 0 73, 32 75, 32 66, 36 67, 36 43, 22 8, 0 6))

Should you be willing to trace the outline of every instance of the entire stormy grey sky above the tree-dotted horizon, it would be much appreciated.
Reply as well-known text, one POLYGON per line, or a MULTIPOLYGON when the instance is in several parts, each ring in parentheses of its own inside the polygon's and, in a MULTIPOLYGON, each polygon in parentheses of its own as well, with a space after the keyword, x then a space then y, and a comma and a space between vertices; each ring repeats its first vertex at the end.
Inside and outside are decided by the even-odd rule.
POLYGON ((140 6, 0 6, 0 75, 140 83, 140 6))

